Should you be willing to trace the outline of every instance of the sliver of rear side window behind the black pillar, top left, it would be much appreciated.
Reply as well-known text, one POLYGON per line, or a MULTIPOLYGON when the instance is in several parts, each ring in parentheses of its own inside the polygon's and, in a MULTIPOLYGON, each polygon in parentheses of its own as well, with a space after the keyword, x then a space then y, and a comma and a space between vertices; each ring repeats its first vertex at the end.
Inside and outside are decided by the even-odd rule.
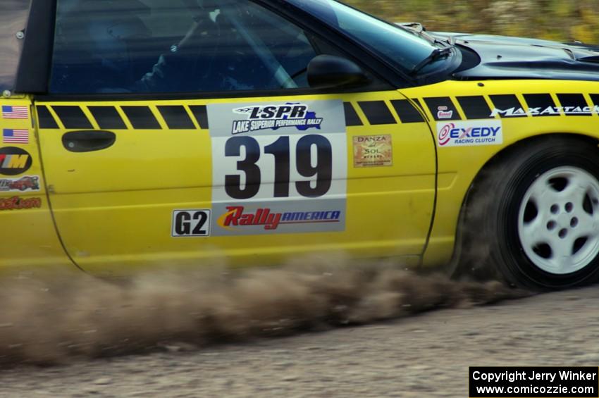
POLYGON ((15 85, 30 0, 0 0, 0 94, 15 85), (17 36, 21 37, 19 39, 17 36))

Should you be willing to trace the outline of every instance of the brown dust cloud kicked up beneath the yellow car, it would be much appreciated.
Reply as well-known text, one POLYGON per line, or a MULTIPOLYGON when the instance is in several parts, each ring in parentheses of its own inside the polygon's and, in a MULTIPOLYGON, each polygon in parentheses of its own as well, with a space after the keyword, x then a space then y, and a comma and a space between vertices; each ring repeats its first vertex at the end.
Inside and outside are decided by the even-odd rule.
POLYGON ((4 277, 0 366, 197 349, 527 295, 390 264, 306 264, 152 270, 118 282, 84 273, 4 277))

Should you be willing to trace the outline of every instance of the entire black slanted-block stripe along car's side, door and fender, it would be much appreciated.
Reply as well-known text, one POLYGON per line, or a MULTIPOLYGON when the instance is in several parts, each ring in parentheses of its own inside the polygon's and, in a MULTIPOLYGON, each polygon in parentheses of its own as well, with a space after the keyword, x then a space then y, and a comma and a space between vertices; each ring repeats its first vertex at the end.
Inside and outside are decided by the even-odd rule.
MULTIPOLYGON (((345 102, 345 124, 393 125, 397 123, 424 123, 419 108, 428 108, 434 120, 462 120, 495 118, 525 118, 528 116, 592 116, 599 113, 599 94, 589 94, 589 103, 583 94, 523 94, 521 101, 515 94, 462 97, 424 97, 423 99, 393 99, 391 101, 345 102), (556 102, 554 98, 557 98, 556 102), (416 105, 414 105, 416 104, 416 105), (458 111, 461 109, 462 113, 458 111), (362 111, 360 116, 356 110, 362 111), (462 117, 464 115, 464 118, 462 117)), ((92 129, 92 120, 80 106, 53 105, 52 111, 66 129, 92 129)), ((101 129, 126 130, 127 118, 133 129, 161 130, 161 123, 149 106, 87 106, 95 123, 101 129)), ((209 128, 205 105, 159 105, 157 111, 169 130, 209 128)), ((58 128, 49 106, 37 106, 40 128, 58 128)))

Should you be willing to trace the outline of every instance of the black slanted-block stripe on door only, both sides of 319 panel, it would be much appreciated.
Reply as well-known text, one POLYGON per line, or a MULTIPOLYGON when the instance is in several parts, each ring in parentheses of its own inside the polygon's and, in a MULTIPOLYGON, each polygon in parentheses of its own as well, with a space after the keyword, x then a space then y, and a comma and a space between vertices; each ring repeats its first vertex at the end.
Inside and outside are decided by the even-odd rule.
MULTIPOLYGON (((418 99, 412 101, 420 106, 418 99)), ((400 123, 424 123, 425 121, 421 111, 418 111, 407 99, 397 99, 389 102, 359 101, 356 104, 362 110, 363 117, 359 116, 354 104, 350 102, 343 104, 347 126, 391 125, 397 124, 397 120, 400 123)), ((89 113, 94 118, 94 120, 89 120, 80 106, 38 105, 39 128, 58 128, 56 120, 58 118, 64 128, 69 130, 92 129, 94 128, 93 121, 101 129, 127 130, 128 125, 123 120, 123 116, 127 118, 133 129, 161 130, 162 128, 154 111, 149 106, 123 105, 119 108, 122 112, 119 112, 116 106, 87 106, 89 113), (50 111, 50 108, 54 113, 50 111)), ((205 105, 164 105, 156 106, 156 109, 169 130, 194 129, 196 128, 194 121, 201 129, 209 128, 205 105), (192 118, 195 120, 192 120, 192 118)))

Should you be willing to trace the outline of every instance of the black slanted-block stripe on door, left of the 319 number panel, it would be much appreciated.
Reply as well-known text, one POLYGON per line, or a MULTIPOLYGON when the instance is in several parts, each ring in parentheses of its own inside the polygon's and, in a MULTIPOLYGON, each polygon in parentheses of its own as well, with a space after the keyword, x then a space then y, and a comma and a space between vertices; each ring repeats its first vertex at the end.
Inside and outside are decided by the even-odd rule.
MULTIPOLYGON (((80 106, 53 105, 52 111, 60 119, 66 129, 93 129, 92 120, 80 106)), ((115 106, 87 106, 98 127, 106 130, 128 129, 123 115, 129 121, 133 129, 161 130, 161 124, 156 118, 154 111, 149 106, 119 106, 122 114, 115 106)), ((156 109, 160 112, 166 127, 169 130, 195 129, 196 125, 201 129, 208 128, 208 116, 205 105, 183 106, 183 105, 159 105, 156 109), (189 111, 187 111, 189 110, 189 111), (193 120, 193 119, 194 120, 193 120), (195 122, 195 123, 194 123, 195 122)), ((39 128, 58 128, 54 115, 49 106, 38 105, 39 128)))

